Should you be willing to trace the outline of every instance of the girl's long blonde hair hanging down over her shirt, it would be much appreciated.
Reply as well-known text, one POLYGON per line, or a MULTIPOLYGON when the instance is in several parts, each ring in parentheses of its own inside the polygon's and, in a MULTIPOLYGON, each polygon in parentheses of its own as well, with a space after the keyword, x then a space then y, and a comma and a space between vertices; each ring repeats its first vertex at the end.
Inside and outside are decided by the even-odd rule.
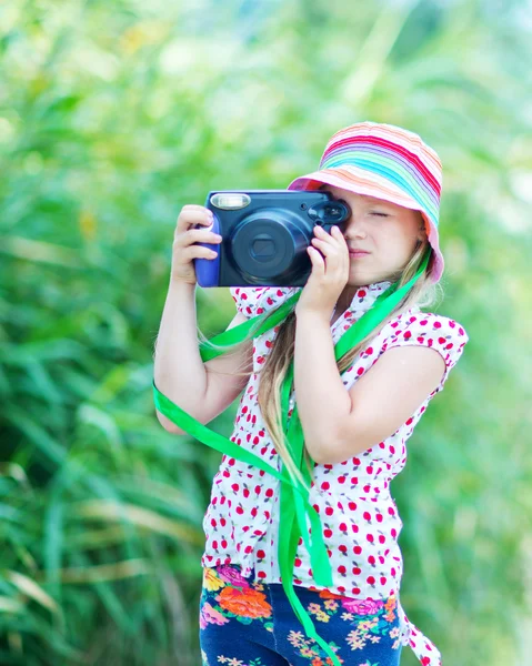
MULTIPOLYGON (((402 272, 399 275, 391 276, 391 281, 394 282, 395 280, 398 280, 399 287, 406 284, 418 272, 428 249, 429 242, 425 235, 425 238, 422 241, 420 241, 416 245, 410 261, 403 268, 402 272)), ((420 275, 418 281, 409 291, 409 293, 400 303, 398 303, 398 305, 389 314, 389 316, 385 317, 384 321, 381 324, 379 324, 379 326, 371 331, 371 333, 369 333, 363 340, 361 340, 354 347, 349 350, 349 352, 343 354, 343 356, 341 356, 338 360, 337 366, 339 373, 342 373, 352 364, 360 351, 363 350, 371 340, 379 335, 379 333, 381 332, 381 330, 388 321, 410 310, 414 305, 428 306, 432 305, 436 301, 438 286, 430 279, 430 265, 431 263, 429 262, 425 271, 420 275)), ((268 317, 272 314, 272 312, 274 311, 271 311, 268 317)), ((257 327, 254 327, 254 330, 257 330, 257 327)), ((252 337, 253 332, 254 331, 251 331, 247 339, 239 343, 239 345, 243 344, 247 340, 252 337)), ((207 340, 204 336, 201 336, 201 339, 203 341, 207 340)), ((275 451, 279 453, 287 467, 290 477, 293 482, 299 482, 299 484, 301 484, 304 488, 310 490, 307 481, 304 480, 301 473, 301 470, 297 466, 290 454, 281 418, 281 387, 287 376, 288 369, 293 359, 294 339, 295 314, 294 310, 292 310, 292 312, 290 312, 279 325, 274 344, 271 349, 271 352, 267 356, 267 361, 262 370, 260 371, 258 402, 260 411, 262 413, 264 425, 270 434, 275 451)), ((234 347, 232 347, 232 350, 234 350, 239 345, 235 345, 234 347)), ((244 373, 238 372, 235 374, 240 375, 244 373)), ((307 451, 307 447, 304 447, 304 445, 303 461, 312 481, 313 467, 311 466, 311 458, 309 457, 309 452, 307 451)))

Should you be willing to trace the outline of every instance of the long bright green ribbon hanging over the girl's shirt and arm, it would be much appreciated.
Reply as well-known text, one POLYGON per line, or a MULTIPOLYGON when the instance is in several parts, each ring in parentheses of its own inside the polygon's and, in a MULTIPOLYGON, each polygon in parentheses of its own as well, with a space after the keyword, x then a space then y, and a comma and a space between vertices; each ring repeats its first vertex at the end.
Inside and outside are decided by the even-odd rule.
MULTIPOLYGON (((363 340, 371 331, 375 329, 384 319, 393 311, 393 309, 404 299, 408 292, 412 289, 416 280, 423 273, 429 262, 430 254, 424 258, 416 274, 399 289, 398 284, 392 284, 384 293, 382 293, 374 302, 373 306, 365 312, 345 333, 342 334, 338 343, 334 345, 334 357, 338 361, 345 352, 352 349, 361 340, 363 340)), ((263 313, 258 316, 247 320, 243 324, 224 331, 220 335, 212 337, 210 341, 200 344, 200 355, 203 362, 209 361, 233 345, 239 344, 247 337, 255 337, 262 333, 273 329, 278 323, 283 321, 285 316, 292 312, 295 303, 301 296, 301 291, 293 294, 280 307, 271 313, 263 313)), ((301 622, 305 634, 309 638, 313 638, 323 652, 331 658, 333 666, 340 666, 340 662, 335 653, 329 644, 321 638, 314 627, 310 615, 304 609, 299 601, 293 588, 293 568, 295 554, 300 538, 303 539, 305 548, 310 555, 312 567, 312 576, 317 585, 322 587, 332 586, 332 569, 329 562, 329 554, 323 541, 323 531, 320 522, 320 516, 314 507, 309 502, 309 491, 311 485, 311 475, 304 465, 304 434, 301 422, 298 415, 297 405, 294 405, 289 418, 289 401, 293 384, 293 361, 289 366, 287 376, 284 377, 281 389, 281 418, 282 428, 285 435, 287 444, 292 455, 292 458, 301 471, 307 485, 291 477, 288 468, 281 460, 281 471, 272 467, 265 461, 251 453, 247 448, 231 442, 228 437, 219 435, 199 421, 190 416, 181 410, 165 395, 163 395, 153 382, 153 400, 157 410, 178 425, 181 430, 188 432, 202 444, 207 444, 225 455, 230 455, 249 465, 254 465, 271 474, 281 482, 280 494, 280 522, 279 522, 279 543, 278 557, 279 568, 281 572, 281 581, 288 599, 301 622), (311 535, 309 537, 309 528, 307 518, 310 521, 311 535)), ((313 461, 311 461, 312 464, 313 461)))

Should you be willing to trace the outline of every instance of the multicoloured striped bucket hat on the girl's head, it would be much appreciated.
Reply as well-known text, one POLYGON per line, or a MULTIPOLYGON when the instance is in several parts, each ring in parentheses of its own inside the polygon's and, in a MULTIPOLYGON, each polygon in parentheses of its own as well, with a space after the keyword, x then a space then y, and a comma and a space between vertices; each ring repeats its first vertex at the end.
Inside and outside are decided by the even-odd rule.
POLYGON ((430 275, 443 273, 438 219, 442 168, 438 153, 418 134, 395 125, 359 122, 338 131, 313 173, 297 178, 289 190, 317 190, 323 183, 384 199, 420 211, 433 250, 430 275))

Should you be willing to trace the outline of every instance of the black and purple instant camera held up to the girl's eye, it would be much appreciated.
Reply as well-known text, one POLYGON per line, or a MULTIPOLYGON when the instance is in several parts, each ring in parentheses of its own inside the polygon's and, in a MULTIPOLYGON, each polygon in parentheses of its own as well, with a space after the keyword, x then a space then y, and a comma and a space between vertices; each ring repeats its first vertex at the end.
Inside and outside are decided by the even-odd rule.
POLYGON ((218 252, 195 259, 200 286, 303 286, 312 270, 307 252, 318 224, 329 231, 351 215, 344 201, 329 192, 219 190, 209 192, 218 252))

